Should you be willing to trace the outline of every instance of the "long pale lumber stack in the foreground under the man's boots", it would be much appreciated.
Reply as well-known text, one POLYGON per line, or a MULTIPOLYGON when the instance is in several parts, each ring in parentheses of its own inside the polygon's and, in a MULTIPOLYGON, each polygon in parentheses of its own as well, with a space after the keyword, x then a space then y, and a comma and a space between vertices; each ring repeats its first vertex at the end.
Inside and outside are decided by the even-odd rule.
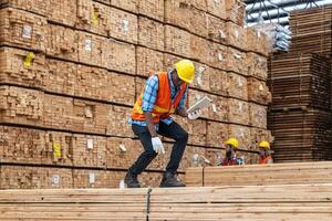
POLYGON ((330 183, 177 189, 2 190, 6 220, 331 220, 330 183), (267 212, 268 211, 268 212, 267 212))

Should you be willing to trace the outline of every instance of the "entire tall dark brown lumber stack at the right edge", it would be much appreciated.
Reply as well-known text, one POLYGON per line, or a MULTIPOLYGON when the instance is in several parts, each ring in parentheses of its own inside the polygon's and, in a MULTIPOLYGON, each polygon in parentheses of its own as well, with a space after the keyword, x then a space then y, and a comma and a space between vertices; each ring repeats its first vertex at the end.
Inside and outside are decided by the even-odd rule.
POLYGON ((288 54, 269 57, 274 160, 332 159, 331 6, 293 12, 288 54))

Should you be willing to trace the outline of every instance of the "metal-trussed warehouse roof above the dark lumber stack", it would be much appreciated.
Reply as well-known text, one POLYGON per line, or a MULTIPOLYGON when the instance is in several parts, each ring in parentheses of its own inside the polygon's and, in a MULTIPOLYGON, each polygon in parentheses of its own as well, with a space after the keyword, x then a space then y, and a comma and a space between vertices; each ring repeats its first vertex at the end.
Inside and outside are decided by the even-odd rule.
POLYGON ((332 0, 245 0, 247 24, 273 22, 288 27, 289 13, 295 10, 332 4, 332 0))

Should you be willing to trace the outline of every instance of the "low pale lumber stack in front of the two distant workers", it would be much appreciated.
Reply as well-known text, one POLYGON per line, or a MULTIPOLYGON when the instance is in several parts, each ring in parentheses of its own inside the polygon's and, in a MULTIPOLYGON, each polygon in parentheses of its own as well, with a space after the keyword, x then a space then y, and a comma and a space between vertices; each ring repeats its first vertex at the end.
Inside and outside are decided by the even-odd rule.
POLYGON ((331 161, 191 167, 186 170, 188 187, 274 186, 331 183, 331 161))

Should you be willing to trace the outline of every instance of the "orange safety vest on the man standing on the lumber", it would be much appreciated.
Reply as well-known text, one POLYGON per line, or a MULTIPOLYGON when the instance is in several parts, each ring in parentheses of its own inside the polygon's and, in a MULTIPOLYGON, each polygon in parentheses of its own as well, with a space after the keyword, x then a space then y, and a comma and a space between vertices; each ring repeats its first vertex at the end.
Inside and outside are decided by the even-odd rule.
MULTIPOLYGON (((152 116, 153 116, 153 122, 155 124, 158 124, 160 118, 162 119, 167 118, 170 114, 173 114, 176 110, 183 95, 186 92, 187 84, 184 83, 181 90, 179 91, 179 93, 177 93, 174 103, 172 104, 170 84, 168 81, 167 72, 159 72, 156 73, 156 75, 159 81, 159 85, 158 85, 159 87, 158 87, 157 98, 154 104, 154 109, 152 112, 152 116)), ((134 108, 132 110, 132 119, 134 120, 141 120, 141 122, 145 120, 144 113, 142 110, 143 93, 144 90, 141 93, 139 97, 137 98, 134 108)))

